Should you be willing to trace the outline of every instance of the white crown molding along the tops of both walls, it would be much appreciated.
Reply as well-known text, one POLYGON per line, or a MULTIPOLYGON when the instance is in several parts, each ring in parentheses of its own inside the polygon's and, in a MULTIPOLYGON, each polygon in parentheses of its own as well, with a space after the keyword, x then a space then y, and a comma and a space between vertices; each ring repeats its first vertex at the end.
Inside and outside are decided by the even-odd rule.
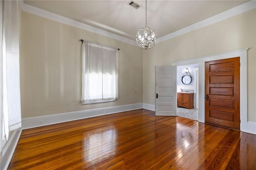
MULTIPOLYGON (((41 16, 41 17, 44 17, 44 18, 47 18, 47 19, 50 19, 50 20, 54 20, 56 22, 67 24, 67 25, 70 25, 70 26, 73 26, 73 27, 76 27, 76 28, 80 28, 80 29, 83 29, 83 30, 86 30, 86 31, 94 32, 94 33, 100 34, 102 36, 106 36, 106 37, 109 37, 109 38, 113 38, 115 40, 119 40, 121 42, 125 42, 125 43, 128 43, 128 44, 137 46, 137 43, 136 43, 135 40, 130 40, 129 38, 125 38, 123 36, 119 36, 117 34, 107 32, 105 30, 102 30, 102 29, 99 29, 99 28, 96 28, 96 27, 93 27, 93 26, 89 26, 89 25, 84 24, 82 22, 78 22, 78 21, 72 20, 70 18, 66 18, 64 16, 60 16, 58 14, 54 14, 54 13, 48 12, 46 10, 42 10, 40 8, 36 8, 36 7, 28 5, 28 4, 24 4, 23 0, 20 0, 20 4, 21 4, 21 8, 24 12, 29 12, 31 14, 35 14, 35 15, 38 15, 38 16, 41 16)), ((238 14, 247 12, 249 10, 253 10, 255 8, 256 8, 256 0, 251 0, 251 1, 246 2, 246 3, 244 3, 240 6, 236 6, 234 8, 231 8, 230 10, 226 10, 226 11, 220 13, 220 14, 217 14, 215 16, 212 16, 210 18, 207 18, 205 20, 202 20, 200 22, 197 22, 195 24, 192 24, 190 26, 182 28, 180 30, 177 30, 176 32, 172 32, 170 34, 167 34, 166 36, 162 36, 162 37, 157 39, 156 43, 160 43, 160 42, 172 39, 172 38, 180 36, 182 34, 186 34, 188 32, 197 30, 199 28, 208 26, 210 24, 214 24, 216 22, 225 20, 225 19, 230 18, 232 16, 236 16, 238 14)))

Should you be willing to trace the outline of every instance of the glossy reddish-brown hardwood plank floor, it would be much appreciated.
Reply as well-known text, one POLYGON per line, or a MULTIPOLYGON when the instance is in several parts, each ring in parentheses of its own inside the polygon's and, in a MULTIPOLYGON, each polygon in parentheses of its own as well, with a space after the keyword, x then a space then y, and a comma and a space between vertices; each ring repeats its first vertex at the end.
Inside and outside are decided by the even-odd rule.
POLYGON ((15 169, 256 169, 256 135, 145 109, 23 130, 15 169))

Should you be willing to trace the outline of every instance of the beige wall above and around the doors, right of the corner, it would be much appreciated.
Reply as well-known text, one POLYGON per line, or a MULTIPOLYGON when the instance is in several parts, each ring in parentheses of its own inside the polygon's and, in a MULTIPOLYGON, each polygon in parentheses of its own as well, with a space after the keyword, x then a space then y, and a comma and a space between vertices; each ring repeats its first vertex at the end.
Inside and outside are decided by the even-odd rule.
MULTIPOLYGON (((248 121, 256 122, 256 10, 157 43, 143 51, 143 102, 155 104, 155 66, 210 54, 249 48, 248 121)), ((241 75, 243 76, 243 75, 241 75)))

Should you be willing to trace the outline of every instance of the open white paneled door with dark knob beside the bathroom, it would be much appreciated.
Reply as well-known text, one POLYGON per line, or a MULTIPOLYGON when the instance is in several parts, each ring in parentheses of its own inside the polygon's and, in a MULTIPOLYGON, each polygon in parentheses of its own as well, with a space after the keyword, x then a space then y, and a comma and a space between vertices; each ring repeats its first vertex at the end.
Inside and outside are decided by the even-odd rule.
POLYGON ((156 66, 156 115, 176 116, 176 66, 156 66))

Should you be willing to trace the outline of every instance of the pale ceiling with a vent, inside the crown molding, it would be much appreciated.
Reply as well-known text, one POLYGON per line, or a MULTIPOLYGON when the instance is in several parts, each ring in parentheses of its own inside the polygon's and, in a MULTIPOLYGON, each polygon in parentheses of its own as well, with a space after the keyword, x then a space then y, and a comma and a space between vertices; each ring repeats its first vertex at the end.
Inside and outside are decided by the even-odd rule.
MULTIPOLYGON (((137 10, 130 0, 24 0, 25 4, 135 39, 145 27, 145 1, 137 10)), ((158 38, 244 4, 246 0, 148 0, 147 25, 158 38)))

